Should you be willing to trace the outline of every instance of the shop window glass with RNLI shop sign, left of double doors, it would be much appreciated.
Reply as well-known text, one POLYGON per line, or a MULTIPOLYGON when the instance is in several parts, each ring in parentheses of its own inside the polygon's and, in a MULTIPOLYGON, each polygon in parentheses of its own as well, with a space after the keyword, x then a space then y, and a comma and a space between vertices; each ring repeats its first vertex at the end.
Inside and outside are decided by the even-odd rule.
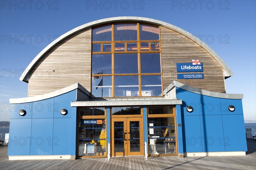
POLYGON ((79 120, 79 156, 106 156, 105 119, 79 120))

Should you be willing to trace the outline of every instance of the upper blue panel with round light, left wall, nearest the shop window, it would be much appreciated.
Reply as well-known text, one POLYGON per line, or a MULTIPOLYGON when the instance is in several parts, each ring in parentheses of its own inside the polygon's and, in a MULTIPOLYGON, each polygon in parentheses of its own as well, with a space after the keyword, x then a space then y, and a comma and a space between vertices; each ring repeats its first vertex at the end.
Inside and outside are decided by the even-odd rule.
POLYGON ((54 111, 54 118, 71 118, 72 117, 72 107, 70 102, 76 101, 76 90, 70 91, 69 93, 56 96, 54 98, 54 105, 52 106, 52 111, 54 111), (61 109, 66 109, 67 114, 61 115, 61 109))

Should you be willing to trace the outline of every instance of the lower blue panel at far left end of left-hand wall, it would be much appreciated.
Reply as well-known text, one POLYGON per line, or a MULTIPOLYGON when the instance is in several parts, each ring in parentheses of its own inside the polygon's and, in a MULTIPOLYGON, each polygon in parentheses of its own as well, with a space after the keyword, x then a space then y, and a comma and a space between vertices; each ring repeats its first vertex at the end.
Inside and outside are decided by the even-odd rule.
POLYGON ((8 156, 29 155, 31 119, 11 119, 8 156))

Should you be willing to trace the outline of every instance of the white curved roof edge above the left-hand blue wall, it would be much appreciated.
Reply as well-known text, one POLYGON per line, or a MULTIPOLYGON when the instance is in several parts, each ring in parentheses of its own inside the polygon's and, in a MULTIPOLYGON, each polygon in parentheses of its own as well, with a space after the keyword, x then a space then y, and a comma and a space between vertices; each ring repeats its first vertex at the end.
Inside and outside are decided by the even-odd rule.
POLYGON ((62 88, 60 90, 57 91, 53 91, 47 94, 42 94, 42 95, 38 95, 38 96, 31 96, 31 97, 24 97, 24 98, 16 98, 16 99, 9 99, 11 104, 20 104, 20 103, 28 103, 28 102, 36 102, 36 101, 40 101, 40 100, 44 100, 44 99, 49 99, 52 97, 56 97, 59 96, 61 94, 65 94, 68 93, 70 91, 73 91, 75 89, 80 89, 81 91, 83 91, 85 94, 87 94, 88 96, 90 96, 90 92, 87 91, 82 85, 80 85, 79 83, 75 83, 73 85, 67 86, 65 88, 62 88))

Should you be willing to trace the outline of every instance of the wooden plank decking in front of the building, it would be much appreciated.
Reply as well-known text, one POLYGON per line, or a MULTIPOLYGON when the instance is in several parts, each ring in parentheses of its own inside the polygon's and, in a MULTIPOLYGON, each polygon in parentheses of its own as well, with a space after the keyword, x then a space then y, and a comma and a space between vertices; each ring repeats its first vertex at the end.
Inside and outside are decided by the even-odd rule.
POLYGON ((246 156, 118 157, 76 160, 9 161, 7 146, 0 146, 1 170, 255 170, 256 141, 247 140, 246 156))

